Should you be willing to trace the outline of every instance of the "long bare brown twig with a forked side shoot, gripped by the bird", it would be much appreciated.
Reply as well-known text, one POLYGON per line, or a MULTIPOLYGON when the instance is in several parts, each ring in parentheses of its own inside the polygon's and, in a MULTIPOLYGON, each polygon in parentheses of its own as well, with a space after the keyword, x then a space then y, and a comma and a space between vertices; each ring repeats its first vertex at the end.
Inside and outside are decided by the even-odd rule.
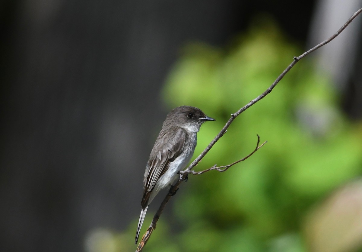
MULTIPOLYGON (((273 82, 273 84, 271 84, 271 86, 265 90, 264 93, 262 93, 261 95, 259 95, 258 97, 256 97, 255 99, 251 100, 248 104, 246 104, 244 107, 240 108, 239 110, 237 110, 237 112, 231 114, 230 119, 227 121, 227 123, 224 125, 224 127, 221 129, 221 131, 219 132, 218 135, 215 136, 215 138, 211 141, 211 143, 209 145, 207 145, 207 147, 203 150, 203 152, 201 152, 201 154, 190 164, 190 166, 188 168, 186 168, 182 173, 180 174, 180 180, 178 180, 176 182, 176 184, 174 184, 174 186, 172 187, 172 190, 170 190, 169 194, 166 195, 165 199, 162 201, 159 209, 157 210, 155 216, 153 217, 152 223, 150 225, 150 227, 147 229, 146 233, 142 236, 142 239, 137 247, 136 252, 138 251, 142 251, 144 245, 146 245, 146 242, 148 241, 148 239, 150 238, 153 229, 156 228, 156 223, 165 207, 165 205, 167 204, 168 200, 171 198, 171 196, 176 193, 178 186, 180 186, 180 183, 183 179, 185 179, 185 177, 187 176, 188 173, 190 173, 191 169, 193 169, 195 167, 195 165, 198 164, 198 162, 201 161, 201 159, 206 155, 207 152, 210 151, 210 149, 212 148, 212 146, 214 146, 214 144, 226 133, 226 130, 228 129, 228 127, 230 126, 230 124, 234 121, 234 119, 239 116, 242 112, 244 112, 246 109, 248 109, 249 107, 251 107, 252 105, 254 105, 255 103, 257 103, 258 101, 260 101, 261 99, 263 99, 266 95, 268 95, 273 88, 281 81, 281 79, 289 72, 289 70, 299 61, 301 60, 303 57, 307 56, 308 54, 310 54, 311 52, 314 52, 315 50, 319 49, 320 47, 322 47, 323 45, 331 42, 334 38, 336 38, 352 21, 355 17, 357 17, 360 13, 362 12, 362 8, 357 10, 357 12, 355 12, 348 20, 347 22, 335 33, 333 34, 330 38, 328 38, 327 40, 324 40, 323 42, 321 42, 320 44, 317 44, 315 47, 309 49, 308 51, 304 52, 302 55, 298 56, 298 57, 293 57, 293 61, 290 63, 290 65, 278 76, 278 78, 273 82)), ((262 146, 262 145, 261 145, 262 146)), ((260 146, 260 147, 261 147, 260 146)), ((259 147, 259 148, 260 148, 259 147)), ((257 148, 258 149, 258 148, 257 148)), ((256 150, 257 150, 256 149, 256 150)), ((251 155, 256 151, 254 150, 251 155)), ((249 155, 247 156, 249 157, 249 155)), ((246 157, 246 158, 247 158, 246 157)), ((237 162, 240 162, 242 160, 238 160, 235 162, 235 164, 237 162)), ((234 163, 233 163, 234 164, 234 163)), ((230 164, 233 165, 233 164, 230 164)), ((229 166, 229 167, 230 167, 229 166)), ((217 168, 221 169, 221 168, 228 168, 227 166, 220 166, 220 167, 215 167, 214 166, 211 169, 216 169, 217 168)), ((207 170, 209 170, 207 169, 207 170)), ((204 171, 206 172, 206 170, 204 171)), ((192 172, 191 172, 192 173, 192 172)))

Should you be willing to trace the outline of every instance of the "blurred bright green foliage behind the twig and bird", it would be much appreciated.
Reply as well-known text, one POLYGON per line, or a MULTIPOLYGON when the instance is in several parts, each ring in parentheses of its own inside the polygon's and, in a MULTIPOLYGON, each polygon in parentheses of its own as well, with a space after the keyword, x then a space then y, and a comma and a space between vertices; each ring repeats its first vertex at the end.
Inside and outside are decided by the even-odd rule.
MULTIPOLYGON (((264 92, 301 53, 271 21, 251 27, 227 50, 186 45, 162 95, 170 110, 191 105, 216 118, 198 133, 195 157, 231 113, 264 92)), ((248 155, 256 134, 268 143, 224 173, 189 175, 172 199, 178 223, 161 216, 144 251, 308 251, 308 210, 362 172, 361 128, 344 116, 329 79, 308 57, 236 118, 195 170, 248 155)), ((142 231, 151 218, 150 212, 142 231)), ((135 227, 127 233, 130 243, 135 227)))

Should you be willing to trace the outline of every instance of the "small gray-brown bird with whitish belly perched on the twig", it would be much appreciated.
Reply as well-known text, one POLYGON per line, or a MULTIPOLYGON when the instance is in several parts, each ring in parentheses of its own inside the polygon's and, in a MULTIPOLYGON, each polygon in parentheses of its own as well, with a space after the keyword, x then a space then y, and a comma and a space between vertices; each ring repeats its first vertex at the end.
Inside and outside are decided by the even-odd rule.
POLYGON ((190 162, 196 147, 196 134, 205 121, 215 121, 215 119, 206 116, 195 107, 181 106, 168 113, 144 172, 142 211, 135 244, 138 242, 148 205, 161 189, 171 187, 178 178, 178 171, 183 170, 190 162))

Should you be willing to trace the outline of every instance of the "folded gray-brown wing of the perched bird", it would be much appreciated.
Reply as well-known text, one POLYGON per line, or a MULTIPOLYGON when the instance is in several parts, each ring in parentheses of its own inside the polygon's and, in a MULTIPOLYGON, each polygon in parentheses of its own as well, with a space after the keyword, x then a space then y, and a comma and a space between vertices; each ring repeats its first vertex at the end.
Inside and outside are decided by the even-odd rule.
POLYGON ((173 134, 162 134, 157 137, 156 143, 151 151, 150 160, 146 166, 144 175, 144 194, 142 207, 147 206, 148 198, 159 178, 167 171, 168 165, 184 149, 187 133, 184 129, 173 131, 173 134), (163 135, 163 136, 162 136, 163 135), (165 137, 167 135, 168 137, 165 137), (171 137, 169 137, 171 135, 171 137), (177 139, 177 140, 175 140, 177 139), (158 151, 156 151, 158 150, 158 151))

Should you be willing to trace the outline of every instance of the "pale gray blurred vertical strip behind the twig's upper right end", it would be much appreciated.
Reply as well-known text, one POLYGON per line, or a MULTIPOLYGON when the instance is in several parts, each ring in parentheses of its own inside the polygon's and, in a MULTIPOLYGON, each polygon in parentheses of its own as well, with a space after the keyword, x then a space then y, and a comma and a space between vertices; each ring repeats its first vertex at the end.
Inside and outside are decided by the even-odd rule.
MULTIPOLYGON (((317 1, 306 48, 328 39, 361 7, 362 0, 317 1)), ((330 74, 336 88, 341 91, 346 89, 354 71, 353 66, 357 62, 361 64, 362 59, 358 55, 358 47, 362 42, 361 32, 362 18, 359 16, 342 31, 342 36, 313 53, 317 57, 317 68, 330 74)))

